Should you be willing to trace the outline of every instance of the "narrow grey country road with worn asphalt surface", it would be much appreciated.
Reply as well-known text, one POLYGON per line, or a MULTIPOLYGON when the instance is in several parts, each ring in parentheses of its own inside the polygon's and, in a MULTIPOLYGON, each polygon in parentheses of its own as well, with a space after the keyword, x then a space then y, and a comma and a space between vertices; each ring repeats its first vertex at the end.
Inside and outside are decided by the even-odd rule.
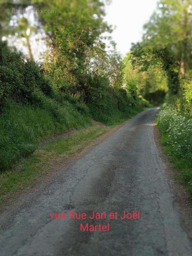
POLYGON ((48 187, 20 196, 22 207, 7 208, 0 215, 0 255, 192 255, 154 140, 157 110, 141 112, 72 160, 48 187), (69 211, 140 211, 140 219, 50 218, 69 211), (109 223, 110 231, 81 232, 80 223, 109 223))

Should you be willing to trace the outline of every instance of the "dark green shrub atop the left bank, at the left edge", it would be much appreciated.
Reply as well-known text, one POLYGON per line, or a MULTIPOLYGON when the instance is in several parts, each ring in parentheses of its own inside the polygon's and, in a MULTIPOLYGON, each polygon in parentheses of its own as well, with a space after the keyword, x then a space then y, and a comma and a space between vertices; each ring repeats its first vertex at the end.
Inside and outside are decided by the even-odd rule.
POLYGON ((8 49, 2 51, 0 107, 2 108, 4 102, 10 98, 16 101, 39 103, 40 98, 43 99, 42 95, 61 100, 59 92, 52 86, 50 79, 34 62, 25 62, 21 54, 8 49))

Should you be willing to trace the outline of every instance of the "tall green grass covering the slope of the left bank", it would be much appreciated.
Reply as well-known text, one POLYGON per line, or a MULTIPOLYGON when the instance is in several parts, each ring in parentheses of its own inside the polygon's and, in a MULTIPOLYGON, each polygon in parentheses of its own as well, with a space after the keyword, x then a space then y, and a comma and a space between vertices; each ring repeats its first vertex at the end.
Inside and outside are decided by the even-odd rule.
POLYGON ((23 156, 31 154, 38 143, 52 134, 79 129, 91 124, 89 116, 81 114, 65 101, 58 105, 60 119, 47 108, 6 102, 0 115, 0 170, 11 168, 23 156))

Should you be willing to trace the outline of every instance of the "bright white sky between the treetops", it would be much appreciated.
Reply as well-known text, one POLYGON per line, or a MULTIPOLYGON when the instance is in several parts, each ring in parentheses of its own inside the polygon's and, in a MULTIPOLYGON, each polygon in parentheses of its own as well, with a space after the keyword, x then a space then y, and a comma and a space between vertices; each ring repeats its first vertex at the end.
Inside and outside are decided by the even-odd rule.
POLYGON ((117 51, 123 56, 129 52, 131 43, 142 37, 142 27, 155 11, 157 0, 112 0, 106 6, 105 20, 116 26, 111 36, 117 44, 117 51))

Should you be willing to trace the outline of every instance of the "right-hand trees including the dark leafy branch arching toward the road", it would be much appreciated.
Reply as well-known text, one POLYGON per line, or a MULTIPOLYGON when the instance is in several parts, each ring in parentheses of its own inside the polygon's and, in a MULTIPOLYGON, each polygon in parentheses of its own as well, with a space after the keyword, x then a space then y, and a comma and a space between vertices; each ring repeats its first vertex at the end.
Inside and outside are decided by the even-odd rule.
MULTIPOLYGON (((140 71, 163 70, 167 76, 169 103, 180 95, 180 80, 190 72, 192 47, 191 0, 161 0, 144 25, 143 41, 133 44, 132 64, 140 71)), ((146 86, 148 87, 148 86, 146 86)))

